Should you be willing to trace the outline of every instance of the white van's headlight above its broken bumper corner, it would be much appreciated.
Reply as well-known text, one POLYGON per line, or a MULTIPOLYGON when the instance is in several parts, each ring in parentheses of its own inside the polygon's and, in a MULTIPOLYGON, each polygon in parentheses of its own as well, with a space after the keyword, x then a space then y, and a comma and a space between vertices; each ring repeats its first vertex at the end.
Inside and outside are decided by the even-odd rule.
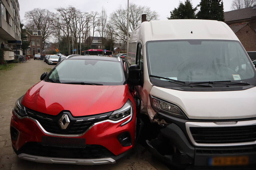
POLYGON ((184 112, 178 106, 168 103, 164 100, 158 99, 152 95, 150 95, 150 99, 151 106, 156 112, 163 112, 165 114, 169 114, 175 117, 187 119, 184 112))

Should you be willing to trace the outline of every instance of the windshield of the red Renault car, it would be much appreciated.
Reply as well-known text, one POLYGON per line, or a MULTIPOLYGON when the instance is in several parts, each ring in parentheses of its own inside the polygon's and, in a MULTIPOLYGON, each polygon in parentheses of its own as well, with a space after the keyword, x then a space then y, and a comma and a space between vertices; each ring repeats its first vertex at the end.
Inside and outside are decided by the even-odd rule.
POLYGON ((121 62, 115 61, 63 60, 52 70, 49 78, 66 83, 88 82, 106 86, 122 85, 125 81, 122 69, 121 62), (106 76, 106 73, 111 73, 111 75, 106 76))

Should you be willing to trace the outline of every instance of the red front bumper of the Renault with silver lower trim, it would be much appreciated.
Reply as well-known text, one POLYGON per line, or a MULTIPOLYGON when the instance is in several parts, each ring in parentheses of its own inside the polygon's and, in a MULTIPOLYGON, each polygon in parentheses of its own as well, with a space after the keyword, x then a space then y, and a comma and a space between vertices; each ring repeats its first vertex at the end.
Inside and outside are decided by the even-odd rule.
MULTIPOLYGON (((135 110, 134 110, 135 113, 135 110)), ((129 119, 129 118, 127 118, 129 119)), ((127 119, 118 122, 102 122, 92 126, 85 134, 73 137, 73 138, 84 138, 86 139, 85 148, 61 148, 61 147, 47 147, 41 146, 42 136, 52 136, 43 132, 39 125, 30 118, 20 118, 13 111, 13 116, 10 123, 10 128, 15 128, 18 131, 17 139, 12 139, 12 145, 21 159, 45 162, 45 163, 68 163, 68 164, 106 164, 115 163, 115 160, 121 158, 134 146, 135 139, 135 122, 136 115, 133 114, 131 122, 121 126, 127 119), (118 136, 124 132, 129 132, 131 135, 132 145, 122 146, 118 140, 118 136), (25 149, 26 148, 26 149, 25 149), (44 150, 37 149, 49 149, 50 152, 41 154, 38 152, 44 152, 44 150), (90 151, 86 149, 90 148, 90 151), (100 149, 99 149, 100 148, 100 149), (103 149, 102 149, 103 148, 103 149), (56 152, 62 150, 61 156, 55 157, 56 152), (32 151, 34 150, 34 152, 32 151), (76 153, 73 153, 76 151, 76 153), (97 151, 100 152, 97 153, 97 151), (72 152, 72 153, 71 153, 72 152), (79 152, 79 153, 78 153, 79 152), (35 153, 35 154, 33 154, 35 153), (51 153, 54 153, 53 155, 51 153), (86 153, 86 157, 83 157, 83 153, 86 153), (78 154, 78 156, 77 156, 78 154), (80 156, 79 156, 80 154, 80 156), (105 154, 105 155, 104 155, 105 154), (76 155, 76 156, 74 156, 76 155), (90 158, 90 155, 93 158, 90 158)), ((11 130, 12 134, 12 130, 11 130)), ((12 136, 12 135, 11 135, 12 136)), ((67 136, 69 137, 69 136, 67 136)), ((61 138, 60 138, 61 140, 61 138)))

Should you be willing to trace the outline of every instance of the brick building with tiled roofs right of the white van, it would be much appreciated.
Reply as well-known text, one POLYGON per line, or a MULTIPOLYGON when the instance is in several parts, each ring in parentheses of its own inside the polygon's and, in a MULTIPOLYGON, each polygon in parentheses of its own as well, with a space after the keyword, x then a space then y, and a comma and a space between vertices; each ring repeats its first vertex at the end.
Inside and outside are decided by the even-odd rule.
POLYGON ((230 26, 246 51, 256 51, 256 4, 253 7, 224 12, 230 26))

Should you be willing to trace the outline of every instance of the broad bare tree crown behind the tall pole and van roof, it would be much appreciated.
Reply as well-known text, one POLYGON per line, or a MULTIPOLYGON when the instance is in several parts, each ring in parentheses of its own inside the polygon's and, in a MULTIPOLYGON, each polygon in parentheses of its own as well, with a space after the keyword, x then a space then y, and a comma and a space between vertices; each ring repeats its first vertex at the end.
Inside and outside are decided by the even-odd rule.
MULTIPOLYGON (((129 10, 129 31, 133 31, 141 24, 141 15, 147 14, 147 20, 157 20, 159 15, 156 11, 152 11, 150 7, 140 6, 130 3, 129 10)), ((111 23, 115 27, 115 35, 120 41, 126 41, 127 34, 127 7, 120 6, 115 12, 111 14, 111 23)))

